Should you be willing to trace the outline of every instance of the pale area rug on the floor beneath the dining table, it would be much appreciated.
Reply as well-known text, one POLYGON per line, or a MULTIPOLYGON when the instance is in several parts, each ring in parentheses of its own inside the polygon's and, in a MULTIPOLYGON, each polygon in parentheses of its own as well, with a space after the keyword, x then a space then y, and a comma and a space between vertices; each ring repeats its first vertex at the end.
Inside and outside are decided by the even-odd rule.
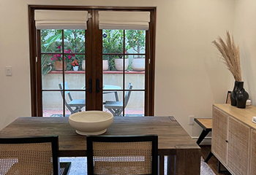
MULTIPOLYGON (((87 174, 87 160, 86 158, 60 158, 61 162, 72 162, 71 168, 69 171, 70 175, 84 175, 87 174)), ((166 163, 166 161, 165 161, 166 163)), ((165 164, 166 167, 166 164, 165 164)), ((167 175, 167 171, 165 168, 165 175, 167 175)), ((201 158, 201 173, 200 175, 215 175, 214 171, 203 161, 201 158)))

